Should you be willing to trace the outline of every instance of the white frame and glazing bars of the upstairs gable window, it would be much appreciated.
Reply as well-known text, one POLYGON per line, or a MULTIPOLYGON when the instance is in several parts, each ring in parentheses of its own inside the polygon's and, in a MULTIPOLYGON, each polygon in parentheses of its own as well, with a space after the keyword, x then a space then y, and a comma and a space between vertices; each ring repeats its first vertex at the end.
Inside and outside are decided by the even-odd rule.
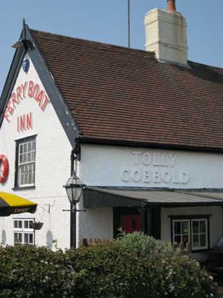
MULTIPOLYGON (((17 140, 17 149, 16 149, 16 160, 17 160, 17 163, 16 163, 16 171, 15 171, 15 187, 18 187, 18 188, 22 188, 22 187, 35 187, 35 177, 36 177, 36 135, 34 136, 31 136, 31 137, 27 137, 27 138, 24 138, 24 139, 21 139, 21 140, 17 140), (28 146, 29 146, 29 143, 31 142, 35 142, 35 149, 33 149, 31 147, 31 150, 28 151, 28 146), (27 150, 24 152, 24 144, 27 144, 27 150), (23 147, 23 152, 21 153, 21 148, 23 147), (26 159, 28 157, 28 155, 30 154, 30 156, 34 155, 34 160, 32 161, 22 161, 20 162, 20 156, 21 155, 24 155, 26 154, 26 159), (27 167, 33 167, 32 171, 29 172, 24 172, 22 173, 22 168, 24 168, 25 166, 27 167), (32 182, 29 183, 24 183, 22 184, 22 175, 28 175, 28 180, 29 180, 29 175, 32 175, 32 182)), ((25 178, 24 178, 25 179, 25 178)))

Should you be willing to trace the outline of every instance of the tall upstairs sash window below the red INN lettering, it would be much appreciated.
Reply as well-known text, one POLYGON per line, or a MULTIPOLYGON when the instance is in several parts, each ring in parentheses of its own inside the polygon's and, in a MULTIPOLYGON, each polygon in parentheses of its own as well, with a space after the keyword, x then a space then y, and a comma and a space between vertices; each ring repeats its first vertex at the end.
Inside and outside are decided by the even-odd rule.
POLYGON ((36 169, 36 136, 17 141, 15 187, 34 187, 36 169))

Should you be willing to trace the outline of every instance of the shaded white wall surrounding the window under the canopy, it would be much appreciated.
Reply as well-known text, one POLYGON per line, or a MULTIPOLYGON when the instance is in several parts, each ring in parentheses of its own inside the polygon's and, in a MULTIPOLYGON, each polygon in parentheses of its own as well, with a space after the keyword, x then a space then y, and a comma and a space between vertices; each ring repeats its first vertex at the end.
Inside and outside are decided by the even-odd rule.
MULTIPOLYGON (((221 207, 161 208, 161 240, 171 241, 171 215, 210 215, 210 248, 222 237, 221 207)), ((195 217, 196 218, 196 217, 195 217)))

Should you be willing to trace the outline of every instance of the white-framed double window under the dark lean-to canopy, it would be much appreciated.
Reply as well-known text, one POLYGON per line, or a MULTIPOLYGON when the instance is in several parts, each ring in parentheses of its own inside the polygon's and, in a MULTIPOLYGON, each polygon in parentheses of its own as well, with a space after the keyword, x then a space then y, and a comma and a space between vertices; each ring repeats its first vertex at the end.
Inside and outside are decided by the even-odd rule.
POLYGON ((188 218, 173 219, 173 242, 192 245, 192 250, 207 250, 208 245, 208 219, 188 218))

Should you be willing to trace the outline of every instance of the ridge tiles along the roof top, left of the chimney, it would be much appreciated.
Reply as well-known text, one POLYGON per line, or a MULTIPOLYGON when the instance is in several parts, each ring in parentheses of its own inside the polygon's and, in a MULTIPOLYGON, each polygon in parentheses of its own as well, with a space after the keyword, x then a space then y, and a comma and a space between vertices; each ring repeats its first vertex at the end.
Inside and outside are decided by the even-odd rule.
POLYGON ((98 46, 107 46, 110 48, 122 48, 122 49, 130 51, 130 52, 134 51, 134 52, 143 53, 143 55, 151 55, 152 57, 154 57, 154 55, 155 55, 155 53, 153 51, 141 50, 140 48, 128 48, 127 46, 120 46, 120 45, 116 45, 113 43, 104 43, 102 41, 92 41, 89 39, 80 39, 79 37, 67 36, 67 35, 62 35, 62 34, 57 34, 57 33, 52 33, 52 32, 45 32, 45 31, 36 30, 36 29, 30 29, 30 31, 36 32, 37 34, 41 33, 41 34, 47 34, 47 35, 52 35, 52 36, 58 36, 60 38, 66 38, 66 39, 71 39, 71 40, 75 40, 75 41, 87 41, 88 43, 93 43, 98 46))

